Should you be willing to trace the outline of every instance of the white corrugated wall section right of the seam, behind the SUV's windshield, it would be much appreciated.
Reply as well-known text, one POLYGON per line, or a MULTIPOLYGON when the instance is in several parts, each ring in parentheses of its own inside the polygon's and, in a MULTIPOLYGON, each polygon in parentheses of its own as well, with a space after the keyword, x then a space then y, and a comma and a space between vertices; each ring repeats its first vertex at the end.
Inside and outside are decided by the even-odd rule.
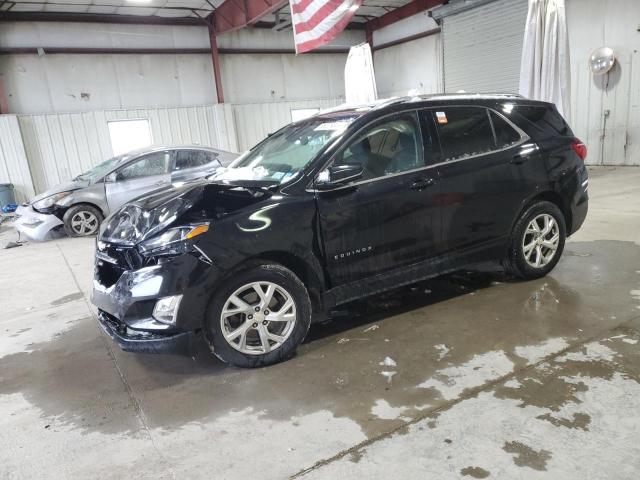
POLYGON ((234 105, 240 151, 251 148, 268 134, 291 122, 291 110, 326 109, 344 102, 342 98, 299 100, 293 102, 249 103, 234 105))

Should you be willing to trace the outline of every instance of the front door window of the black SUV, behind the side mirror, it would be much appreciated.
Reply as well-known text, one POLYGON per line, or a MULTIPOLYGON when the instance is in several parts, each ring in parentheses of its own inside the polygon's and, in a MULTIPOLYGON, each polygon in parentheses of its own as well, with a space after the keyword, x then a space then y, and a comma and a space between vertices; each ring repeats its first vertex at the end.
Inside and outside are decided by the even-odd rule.
POLYGON ((417 115, 403 113, 367 127, 338 154, 334 166, 361 165, 362 180, 424 167, 417 115))

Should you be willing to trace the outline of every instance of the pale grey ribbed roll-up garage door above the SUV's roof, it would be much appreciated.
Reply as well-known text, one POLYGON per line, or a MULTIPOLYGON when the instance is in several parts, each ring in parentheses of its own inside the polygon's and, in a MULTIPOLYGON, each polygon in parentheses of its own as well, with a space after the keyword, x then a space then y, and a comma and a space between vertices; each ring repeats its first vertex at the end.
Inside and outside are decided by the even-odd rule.
POLYGON ((527 0, 496 0, 443 18, 446 92, 518 92, 527 0))

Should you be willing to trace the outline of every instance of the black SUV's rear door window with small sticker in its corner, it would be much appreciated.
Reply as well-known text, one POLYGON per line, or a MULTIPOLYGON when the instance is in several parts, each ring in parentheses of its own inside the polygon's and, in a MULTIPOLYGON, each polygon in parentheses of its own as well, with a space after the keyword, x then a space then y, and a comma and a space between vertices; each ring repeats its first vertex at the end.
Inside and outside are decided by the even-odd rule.
POLYGON ((487 110, 481 107, 446 107, 433 110, 443 160, 450 162, 495 150, 487 110))

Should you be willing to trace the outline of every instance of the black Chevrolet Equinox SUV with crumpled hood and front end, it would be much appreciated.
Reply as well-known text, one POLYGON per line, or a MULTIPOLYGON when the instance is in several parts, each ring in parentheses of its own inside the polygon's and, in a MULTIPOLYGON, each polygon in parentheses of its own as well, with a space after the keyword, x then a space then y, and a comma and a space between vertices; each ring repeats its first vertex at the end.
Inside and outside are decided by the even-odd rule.
POLYGON ((223 361, 257 367, 350 300, 487 262, 543 276, 585 219, 585 155, 552 104, 515 95, 320 113, 111 215, 100 324, 144 352, 203 332, 223 361))

